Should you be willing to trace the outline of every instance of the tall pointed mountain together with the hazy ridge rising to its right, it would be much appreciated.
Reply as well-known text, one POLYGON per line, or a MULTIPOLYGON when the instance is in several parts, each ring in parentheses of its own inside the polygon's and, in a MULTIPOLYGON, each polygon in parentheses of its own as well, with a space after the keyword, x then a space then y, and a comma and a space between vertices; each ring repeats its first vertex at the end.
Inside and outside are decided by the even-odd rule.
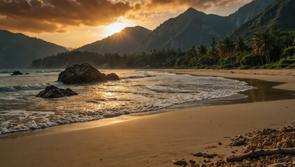
POLYGON ((168 19, 148 35, 138 51, 209 45, 212 38, 219 40, 241 24, 253 19, 275 0, 255 0, 239 8, 228 17, 206 15, 189 8, 178 17, 168 19))

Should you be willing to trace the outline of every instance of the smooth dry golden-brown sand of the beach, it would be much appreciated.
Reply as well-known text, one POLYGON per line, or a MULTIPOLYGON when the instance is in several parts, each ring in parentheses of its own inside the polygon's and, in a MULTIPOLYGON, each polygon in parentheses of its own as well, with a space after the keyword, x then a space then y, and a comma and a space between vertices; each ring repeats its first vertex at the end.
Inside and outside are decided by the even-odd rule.
MULTIPOLYGON (((284 83, 276 88, 295 90, 295 70, 157 71, 276 81, 284 83)), ((0 164, 3 167, 175 166, 173 159, 201 161, 191 155, 193 152, 229 157, 233 149, 224 147, 231 142, 228 137, 292 125, 295 123, 294 108, 294 98, 202 106, 102 127, 7 139, 0 141, 0 164)))

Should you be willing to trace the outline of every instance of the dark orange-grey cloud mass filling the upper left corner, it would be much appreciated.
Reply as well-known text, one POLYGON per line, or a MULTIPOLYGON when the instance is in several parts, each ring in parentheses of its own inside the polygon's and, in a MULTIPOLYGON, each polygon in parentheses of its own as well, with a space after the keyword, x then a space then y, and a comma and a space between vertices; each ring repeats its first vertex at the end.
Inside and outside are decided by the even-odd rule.
POLYGON ((99 26, 115 22, 140 5, 110 0, 0 0, 0 28, 63 32, 67 26, 99 26))

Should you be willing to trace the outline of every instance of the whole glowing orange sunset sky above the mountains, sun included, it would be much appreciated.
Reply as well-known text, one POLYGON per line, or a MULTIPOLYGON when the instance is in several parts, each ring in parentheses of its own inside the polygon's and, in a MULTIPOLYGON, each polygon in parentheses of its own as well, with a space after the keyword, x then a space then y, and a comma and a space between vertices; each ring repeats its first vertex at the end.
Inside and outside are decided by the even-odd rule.
POLYGON ((0 29, 77 48, 127 26, 153 30, 187 8, 230 15, 252 0, 0 0, 0 29))

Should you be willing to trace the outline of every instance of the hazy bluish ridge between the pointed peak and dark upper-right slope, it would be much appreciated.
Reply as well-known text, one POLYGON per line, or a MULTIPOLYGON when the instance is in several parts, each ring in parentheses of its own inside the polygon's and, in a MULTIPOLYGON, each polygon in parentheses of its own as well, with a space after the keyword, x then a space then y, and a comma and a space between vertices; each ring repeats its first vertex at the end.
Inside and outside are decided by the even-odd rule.
POLYGON ((228 16, 228 22, 234 23, 236 26, 250 21, 268 6, 273 4, 276 0, 254 0, 246 5, 242 6, 237 12, 232 13, 228 16))

